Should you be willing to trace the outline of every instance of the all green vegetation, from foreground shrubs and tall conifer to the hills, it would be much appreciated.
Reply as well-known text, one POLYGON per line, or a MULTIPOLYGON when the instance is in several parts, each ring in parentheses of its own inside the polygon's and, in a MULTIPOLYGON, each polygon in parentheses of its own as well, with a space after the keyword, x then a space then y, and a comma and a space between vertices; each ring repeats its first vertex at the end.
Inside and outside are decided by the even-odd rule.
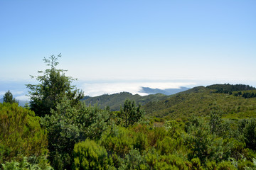
POLYGON ((124 100, 110 111, 80 101, 58 57, 44 60, 50 69, 38 84, 27 84, 29 106, 10 91, 0 103, 0 169, 256 169, 256 101, 242 96, 255 89, 102 96, 124 100))

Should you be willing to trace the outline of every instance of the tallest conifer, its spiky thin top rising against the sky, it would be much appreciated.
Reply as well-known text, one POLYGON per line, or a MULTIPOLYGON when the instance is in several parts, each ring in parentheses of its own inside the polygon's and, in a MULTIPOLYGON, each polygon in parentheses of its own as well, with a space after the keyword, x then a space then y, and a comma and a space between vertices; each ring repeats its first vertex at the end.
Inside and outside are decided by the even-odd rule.
POLYGON ((64 96, 67 96, 72 101, 72 105, 78 104, 83 97, 82 91, 75 89, 75 86, 71 85, 74 79, 65 76, 66 70, 55 68, 58 65, 57 60, 59 57, 61 55, 57 57, 51 55, 48 60, 44 58, 43 61, 50 69, 46 69, 45 72, 38 71, 38 74, 43 73, 42 76, 31 76, 36 78, 39 84, 26 85, 31 97, 31 110, 35 111, 36 115, 44 116, 50 114, 50 108, 55 110, 57 103, 60 103, 64 96))

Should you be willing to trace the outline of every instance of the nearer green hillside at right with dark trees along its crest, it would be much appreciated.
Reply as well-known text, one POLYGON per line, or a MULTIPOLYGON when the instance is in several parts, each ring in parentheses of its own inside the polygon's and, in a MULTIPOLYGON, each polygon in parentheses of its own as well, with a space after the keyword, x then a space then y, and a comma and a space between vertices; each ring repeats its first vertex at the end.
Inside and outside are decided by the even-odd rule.
MULTIPOLYGON (((151 101, 143 106, 147 115, 156 117, 186 119, 193 115, 209 115, 210 111, 220 109, 224 116, 232 118, 248 118, 256 115, 256 98, 245 98, 238 95, 247 94, 248 86, 230 84, 215 84, 212 86, 198 86, 188 91, 169 96, 161 101, 151 101), (214 88, 213 88, 214 87, 214 88), (246 88, 245 88, 246 87, 246 88), (233 93, 222 93, 223 89, 235 89, 233 93)), ((253 92, 250 87, 250 93, 253 92)))

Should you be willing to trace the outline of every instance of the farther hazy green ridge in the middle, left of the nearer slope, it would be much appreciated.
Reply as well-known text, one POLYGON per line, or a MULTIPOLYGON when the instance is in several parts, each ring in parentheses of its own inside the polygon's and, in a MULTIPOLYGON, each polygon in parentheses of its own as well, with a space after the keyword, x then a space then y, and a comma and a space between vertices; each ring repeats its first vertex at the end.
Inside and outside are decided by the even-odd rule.
POLYGON ((82 98, 87 105, 94 106, 97 104, 100 108, 110 107, 111 111, 119 111, 120 106, 124 104, 126 99, 136 101, 136 103, 141 103, 142 105, 148 103, 149 101, 161 101, 168 98, 164 94, 151 94, 148 96, 140 96, 139 94, 130 94, 129 92, 121 92, 118 94, 104 94, 102 96, 82 98))

